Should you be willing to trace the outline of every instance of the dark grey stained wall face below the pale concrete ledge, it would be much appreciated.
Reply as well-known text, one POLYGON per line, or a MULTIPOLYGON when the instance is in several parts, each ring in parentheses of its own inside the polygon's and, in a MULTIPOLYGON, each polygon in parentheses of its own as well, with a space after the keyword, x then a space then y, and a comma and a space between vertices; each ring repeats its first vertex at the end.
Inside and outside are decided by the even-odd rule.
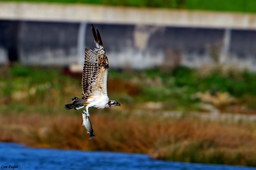
MULTIPOLYGON (((65 10, 66 13, 72 10, 68 11, 65 10)), ((27 16, 22 12, 24 11, 20 12, 20 16, 27 16)), ((77 13, 77 11, 73 12, 77 13)), ((66 13, 63 15, 66 16, 66 13)), ((13 16, 12 12, 11 14, 13 16)), ((180 14, 181 18, 182 14, 180 14)), ((243 17, 238 18, 238 22, 242 22, 243 17)), ((244 18, 247 20, 246 17, 244 18)), ((231 24, 232 27, 230 24, 218 26, 219 22, 215 23, 215 27, 214 24, 202 27, 205 20, 201 24, 198 21, 188 22, 192 25, 186 22, 183 25, 146 24, 143 20, 141 23, 135 20, 134 23, 124 24, 116 20, 112 22, 100 22, 99 18, 95 20, 94 26, 100 31, 112 68, 143 69, 163 65, 172 67, 177 64, 200 67, 220 62, 236 64, 238 67, 256 71, 256 25, 254 30, 251 24, 254 20, 249 24, 248 22, 243 24, 242 28, 237 27, 234 21, 236 24, 231 24), (198 26, 193 25, 195 23, 198 23, 198 26)), ((32 21, 31 18, 8 19, 2 15, 0 63, 18 59, 28 65, 70 65, 72 63, 82 65, 84 48, 94 48, 90 22, 92 20, 87 22, 72 19, 47 21, 42 18, 32 21)))

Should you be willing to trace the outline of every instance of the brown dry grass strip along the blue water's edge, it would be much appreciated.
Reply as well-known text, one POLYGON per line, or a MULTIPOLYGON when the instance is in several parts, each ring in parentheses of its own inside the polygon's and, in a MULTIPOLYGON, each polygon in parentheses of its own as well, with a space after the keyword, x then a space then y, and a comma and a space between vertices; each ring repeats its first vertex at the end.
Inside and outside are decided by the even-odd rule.
POLYGON ((29 146, 149 153, 152 158, 256 166, 256 125, 135 115, 112 109, 91 113, 96 137, 82 115, 0 115, 0 140, 29 146), (114 110, 114 111, 113 111, 114 110))

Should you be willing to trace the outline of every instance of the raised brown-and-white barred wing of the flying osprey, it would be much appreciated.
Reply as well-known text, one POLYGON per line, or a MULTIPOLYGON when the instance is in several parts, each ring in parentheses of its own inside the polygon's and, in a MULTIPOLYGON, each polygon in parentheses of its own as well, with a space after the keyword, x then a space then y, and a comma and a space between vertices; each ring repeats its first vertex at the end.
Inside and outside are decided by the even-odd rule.
POLYGON ((92 33, 96 48, 85 48, 85 61, 82 78, 83 99, 90 96, 108 95, 108 58, 106 56, 100 33, 97 33, 92 25, 92 33))

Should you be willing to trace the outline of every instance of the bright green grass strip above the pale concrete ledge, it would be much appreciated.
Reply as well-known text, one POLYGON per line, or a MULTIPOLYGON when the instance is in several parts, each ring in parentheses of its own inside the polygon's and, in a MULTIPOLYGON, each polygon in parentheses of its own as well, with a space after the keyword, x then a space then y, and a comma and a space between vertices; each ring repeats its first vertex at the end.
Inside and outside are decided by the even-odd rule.
MULTIPOLYGON (((1 0, 10 1, 10 0, 1 0)), ((256 12, 255 0, 12 0, 29 2, 88 3, 113 6, 256 12)))

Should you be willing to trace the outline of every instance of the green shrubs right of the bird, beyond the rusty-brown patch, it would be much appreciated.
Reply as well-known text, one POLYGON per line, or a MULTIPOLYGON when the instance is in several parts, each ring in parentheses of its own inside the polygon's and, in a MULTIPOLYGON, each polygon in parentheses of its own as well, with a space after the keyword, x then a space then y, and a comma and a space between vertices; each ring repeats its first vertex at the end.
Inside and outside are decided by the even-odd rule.
MULTIPOLYGON (((193 97, 197 92, 209 92, 213 96, 227 92, 236 97, 241 105, 256 109, 256 74, 245 71, 228 70, 222 73, 222 68, 210 70, 202 75, 201 70, 179 66, 169 72, 161 69, 145 71, 110 71, 110 77, 131 80, 137 77, 137 85, 141 94, 133 96, 135 102, 158 101, 171 103, 171 109, 195 109, 200 100, 193 97), (143 97, 142 97, 143 96, 143 97)), ((183 110, 181 109, 181 110, 183 110)))

